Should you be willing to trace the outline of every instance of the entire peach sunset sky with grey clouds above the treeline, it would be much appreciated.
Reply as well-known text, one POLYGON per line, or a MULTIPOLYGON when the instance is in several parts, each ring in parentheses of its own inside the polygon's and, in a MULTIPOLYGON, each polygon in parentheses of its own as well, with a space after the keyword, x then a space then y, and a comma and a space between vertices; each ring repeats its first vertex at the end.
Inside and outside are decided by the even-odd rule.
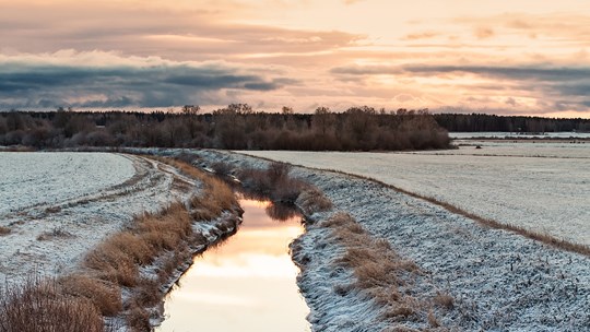
POLYGON ((0 0, 0 110, 590 118, 588 0, 0 0))

